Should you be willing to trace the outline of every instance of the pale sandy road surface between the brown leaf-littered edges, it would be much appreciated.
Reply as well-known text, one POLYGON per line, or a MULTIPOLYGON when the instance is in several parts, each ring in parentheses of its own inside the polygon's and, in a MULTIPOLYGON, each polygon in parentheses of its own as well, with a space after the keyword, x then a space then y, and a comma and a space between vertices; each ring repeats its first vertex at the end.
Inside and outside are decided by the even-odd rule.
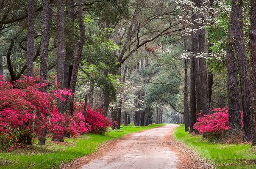
POLYGON ((166 146, 178 125, 167 124, 120 139, 105 155, 95 158, 82 169, 176 169, 178 156, 166 146))

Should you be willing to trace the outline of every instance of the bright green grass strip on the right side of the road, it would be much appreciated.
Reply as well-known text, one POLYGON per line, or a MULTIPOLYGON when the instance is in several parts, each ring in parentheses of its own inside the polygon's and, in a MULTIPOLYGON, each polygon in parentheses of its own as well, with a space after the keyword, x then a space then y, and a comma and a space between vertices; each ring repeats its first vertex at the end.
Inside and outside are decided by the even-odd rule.
POLYGON ((250 151, 250 144, 213 144, 184 130, 184 125, 176 128, 175 139, 212 161, 217 169, 256 169, 256 153, 250 151))

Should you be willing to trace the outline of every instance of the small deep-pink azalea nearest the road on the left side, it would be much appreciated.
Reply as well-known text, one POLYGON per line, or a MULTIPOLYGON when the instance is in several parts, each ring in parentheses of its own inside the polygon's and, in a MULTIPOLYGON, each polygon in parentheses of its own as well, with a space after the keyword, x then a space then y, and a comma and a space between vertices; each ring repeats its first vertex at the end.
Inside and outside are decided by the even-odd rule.
MULTIPOLYGON (((83 112, 82 104, 74 104, 74 112, 82 114, 83 112)), ((94 109, 92 110, 90 106, 87 106, 86 109, 86 125, 89 128, 89 131, 95 134, 103 134, 106 132, 109 126, 112 126, 111 122, 102 114, 103 110, 94 109)))

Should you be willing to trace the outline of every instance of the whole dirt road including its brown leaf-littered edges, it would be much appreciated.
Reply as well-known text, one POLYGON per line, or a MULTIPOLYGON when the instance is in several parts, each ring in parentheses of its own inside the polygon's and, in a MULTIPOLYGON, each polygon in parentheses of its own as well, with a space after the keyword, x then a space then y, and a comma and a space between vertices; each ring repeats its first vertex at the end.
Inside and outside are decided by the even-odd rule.
POLYGON ((167 124, 128 134, 61 169, 213 169, 193 150, 175 141, 173 132, 178 126, 167 124))

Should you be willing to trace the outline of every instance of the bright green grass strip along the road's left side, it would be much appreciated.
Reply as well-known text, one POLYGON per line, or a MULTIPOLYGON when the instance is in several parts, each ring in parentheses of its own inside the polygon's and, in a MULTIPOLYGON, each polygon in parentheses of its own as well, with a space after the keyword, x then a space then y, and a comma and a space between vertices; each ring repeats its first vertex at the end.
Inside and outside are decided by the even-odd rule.
POLYGON ((0 152, 0 169, 58 168, 60 164, 94 153, 103 142, 162 125, 164 124, 143 127, 135 127, 134 125, 121 126, 120 130, 109 131, 105 135, 86 134, 78 139, 65 139, 65 142, 61 144, 47 140, 45 146, 33 144, 26 149, 14 150, 10 153, 0 152))

